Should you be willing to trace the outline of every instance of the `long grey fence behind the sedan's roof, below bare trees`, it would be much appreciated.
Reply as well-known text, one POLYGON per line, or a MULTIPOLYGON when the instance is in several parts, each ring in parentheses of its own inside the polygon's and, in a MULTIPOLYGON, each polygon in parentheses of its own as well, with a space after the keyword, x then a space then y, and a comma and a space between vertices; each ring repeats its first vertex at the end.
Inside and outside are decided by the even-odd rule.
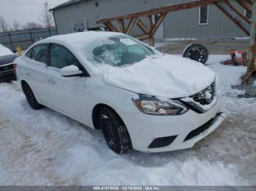
POLYGON ((42 28, 34 30, 12 31, 7 33, 0 33, 0 44, 10 48, 15 52, 16 47, 21 50, 26 50, 31 44, 38 39, 45 39, 48 36, 57 35, 56 28, 42 28))

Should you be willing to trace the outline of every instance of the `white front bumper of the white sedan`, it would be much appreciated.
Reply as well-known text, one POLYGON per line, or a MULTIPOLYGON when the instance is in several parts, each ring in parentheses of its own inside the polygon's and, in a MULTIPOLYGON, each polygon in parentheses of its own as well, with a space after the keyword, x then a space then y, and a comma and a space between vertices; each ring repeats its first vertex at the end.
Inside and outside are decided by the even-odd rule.
POLYGON ((121 117, 129 131, 133 149, 142 152, 167 152, 193 147, 197 141, 218 128, 225 120, 220 108, 219 98, 217 104, 203 114, 189 110, 181 116, 153 116, 140 112, 121 117), (169 145, 149 147, 154 140, 166 137, 173 139, 169 145))

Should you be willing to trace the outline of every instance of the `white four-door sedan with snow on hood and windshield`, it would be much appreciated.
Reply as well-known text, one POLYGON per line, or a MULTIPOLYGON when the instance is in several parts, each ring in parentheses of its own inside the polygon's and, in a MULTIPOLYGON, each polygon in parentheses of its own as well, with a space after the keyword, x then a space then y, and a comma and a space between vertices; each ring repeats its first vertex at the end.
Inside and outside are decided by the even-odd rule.
POLYGON ((48 106, 102 129, 117 153, 193 147, 225 119, 213 71, 124 34, 52 36, 15 63, 33 109, 48 106))

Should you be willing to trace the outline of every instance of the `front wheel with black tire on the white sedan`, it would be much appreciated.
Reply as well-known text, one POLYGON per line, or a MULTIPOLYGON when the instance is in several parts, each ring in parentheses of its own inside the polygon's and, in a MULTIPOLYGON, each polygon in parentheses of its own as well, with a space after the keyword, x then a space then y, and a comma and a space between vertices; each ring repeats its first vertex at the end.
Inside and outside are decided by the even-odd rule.
POLYGON ((132 149, 132 141, 124 122, 112 109, 105 107, 100 110, 99 126, 108 147, 114 152, 122 154, 132 149))

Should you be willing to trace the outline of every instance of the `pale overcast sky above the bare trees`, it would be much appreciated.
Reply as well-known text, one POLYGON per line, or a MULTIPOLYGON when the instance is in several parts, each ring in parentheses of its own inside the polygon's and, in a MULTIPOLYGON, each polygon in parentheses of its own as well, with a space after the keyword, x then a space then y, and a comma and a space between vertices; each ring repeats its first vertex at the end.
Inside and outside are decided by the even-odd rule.
POLYGON ((9 26, 12 26, 14 20, 20 25, 28 22, 42 23, 40 15, 45 1, 48 1, 50 7, 56 7, 68 0, 0 0, 0 15, 9 26))

